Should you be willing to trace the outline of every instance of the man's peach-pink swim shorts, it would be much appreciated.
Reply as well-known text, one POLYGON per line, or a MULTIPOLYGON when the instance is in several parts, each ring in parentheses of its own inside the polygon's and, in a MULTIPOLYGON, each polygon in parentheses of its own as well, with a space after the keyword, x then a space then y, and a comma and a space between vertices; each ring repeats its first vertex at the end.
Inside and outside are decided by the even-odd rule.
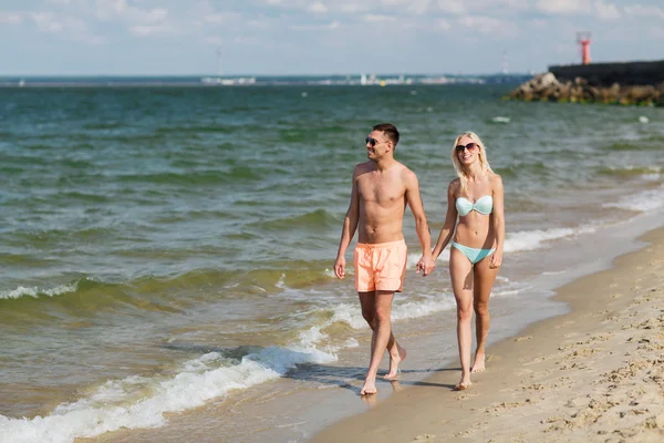
POLYGON ((408 248, 404 240, 367 244, 355 247, 355 289, 401 292, 406 276, 408 248))

